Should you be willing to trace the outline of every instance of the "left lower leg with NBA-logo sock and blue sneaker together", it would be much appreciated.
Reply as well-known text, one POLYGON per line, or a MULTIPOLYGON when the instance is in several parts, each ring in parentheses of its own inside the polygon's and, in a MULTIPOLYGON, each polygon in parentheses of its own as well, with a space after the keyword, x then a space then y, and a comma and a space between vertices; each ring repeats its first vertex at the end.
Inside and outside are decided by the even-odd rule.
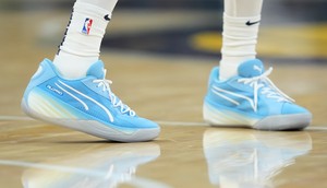
POLYGON ((117 0, 77 0, 52 63, 45 59, 31 79, 23 110, 37 119, 108 140, 155 139, 157 124, 138 117, 110 90, 99 49, 117 0))

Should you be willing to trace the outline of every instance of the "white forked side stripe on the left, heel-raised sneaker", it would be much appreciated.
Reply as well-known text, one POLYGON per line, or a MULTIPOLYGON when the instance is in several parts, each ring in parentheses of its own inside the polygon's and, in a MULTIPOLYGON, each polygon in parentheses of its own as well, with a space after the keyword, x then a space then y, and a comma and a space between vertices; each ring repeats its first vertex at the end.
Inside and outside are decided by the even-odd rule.
MULTIPOLYGON (((89 99, 90 102, 93 102, 94 104, 96 104, 98 107, 100 107, 100 108, 108 115, 109 120, 110 120, 111 122, 113 122, 113 120, 114 120, 114 119, 113 119, 113 116, 111 115, 110 110, 109 110, 107 107, 105 107, 105 106, 101 105, 99 102, 97 102, 96 99, 92 98, 90 96, 87 96, 86 94, 84 94, 84 93, 77 91, 76 89, 74 89, 74 87, 72 87, 72 86, 70 86, 70 85, 68 85, 68 84, 61 82, 60 80, 58 80, 58 82, 59 82, 62 86, 69 89, 70 91, 72 91, 72 92, 74 92, 74 93, 77 93, 78 95, 82 95, 83 97, 85 97, 85 98, 89 99)), ((84 109, 85 109, 86 111, 88 111, 89 108, 88 108, 88 106, 86 105, 86 103, 84 103, 84 102, 83 102, 81 98, 78 98, 76 95, 74 95, 74 94, 72 94, 71 92, 68 92, 66 90, 64 90, 64 89, 63 89, 62 86, 60 86, 59 84, 56 83, 56 85, 57 85, 60 90, 62 90, 64 93, 66 93, 68 95, 70 95, 70 96, 73 97, 74 99, 76 99, 78 103, 81 103, 81 104, 83 105, 84 109)))

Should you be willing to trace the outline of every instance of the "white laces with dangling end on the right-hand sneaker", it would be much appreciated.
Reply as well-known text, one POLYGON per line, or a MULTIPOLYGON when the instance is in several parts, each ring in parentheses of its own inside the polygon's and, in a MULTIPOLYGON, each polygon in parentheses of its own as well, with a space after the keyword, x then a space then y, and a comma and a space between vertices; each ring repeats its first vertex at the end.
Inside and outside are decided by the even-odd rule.
POLYGON ((262 75, 254 78, 239 79, 238 82, 243 82, 244 84, 250 84, 253 87, 254 93, 254 111, 257 111, 257 96, 258 90, 262 89, 262 94, 266 95, 268 98, 275 98, 277 102, 295 102, 293 98, 289 97, 287 94, 281 92, 271 81, 268 75, 272 72, 272 68, 269 68, 262 75))

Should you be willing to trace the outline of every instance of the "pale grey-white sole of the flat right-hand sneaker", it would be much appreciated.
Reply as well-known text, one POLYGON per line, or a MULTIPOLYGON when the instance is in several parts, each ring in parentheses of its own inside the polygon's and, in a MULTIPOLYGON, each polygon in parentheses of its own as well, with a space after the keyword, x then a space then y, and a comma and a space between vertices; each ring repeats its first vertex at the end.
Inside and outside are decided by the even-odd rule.
POLYGON ((218 127, 249 127, 259 130, 295 130, 304 129, 311 122, 311 114, 292 114, 269 116, 255 119, 231 110, 219 110, 205 103, 203 117, 206 122, 218 127))

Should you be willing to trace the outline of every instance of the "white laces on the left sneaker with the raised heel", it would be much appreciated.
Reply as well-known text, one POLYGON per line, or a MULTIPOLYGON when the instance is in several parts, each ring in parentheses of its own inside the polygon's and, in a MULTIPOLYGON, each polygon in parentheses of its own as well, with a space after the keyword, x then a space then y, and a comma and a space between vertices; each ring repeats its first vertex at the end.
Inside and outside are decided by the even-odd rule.
POLYGON ((111 80, 106 80, 107 70, 104 69, 104 79, 94 80, 93 83, 98 84, 97 87, 102 86, 104 92, 108 92, 111 104, 113 107, 119 107, 122 114, 129 113, 130 116, 135 116, 136 113, 132 110, 128 105, 123 104, 121 99, 119 99, 110 90, 110 84, 112 84, 111 80))

